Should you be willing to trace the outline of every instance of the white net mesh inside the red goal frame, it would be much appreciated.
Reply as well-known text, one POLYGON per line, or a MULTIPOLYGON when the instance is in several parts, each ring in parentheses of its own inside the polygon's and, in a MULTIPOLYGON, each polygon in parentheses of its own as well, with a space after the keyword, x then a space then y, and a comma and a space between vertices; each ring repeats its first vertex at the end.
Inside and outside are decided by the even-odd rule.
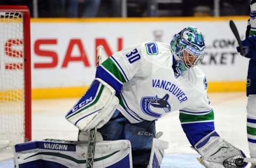
POLYGON ((25 141, 23 14, 0 12, 0 141, 25 141))

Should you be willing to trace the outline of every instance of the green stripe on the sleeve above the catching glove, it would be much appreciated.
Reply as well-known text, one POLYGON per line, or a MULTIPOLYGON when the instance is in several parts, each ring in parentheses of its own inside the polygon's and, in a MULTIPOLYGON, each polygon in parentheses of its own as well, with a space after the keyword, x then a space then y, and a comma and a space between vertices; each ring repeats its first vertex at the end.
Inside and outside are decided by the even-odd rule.
POLYGON ((213 110, 210 113, 203 114, 203 115, 193 115, 193 114, 184 114, 180 113, 180 122, 197 122, 197 121, 207 121, 213 120, 214 113, 213 110))

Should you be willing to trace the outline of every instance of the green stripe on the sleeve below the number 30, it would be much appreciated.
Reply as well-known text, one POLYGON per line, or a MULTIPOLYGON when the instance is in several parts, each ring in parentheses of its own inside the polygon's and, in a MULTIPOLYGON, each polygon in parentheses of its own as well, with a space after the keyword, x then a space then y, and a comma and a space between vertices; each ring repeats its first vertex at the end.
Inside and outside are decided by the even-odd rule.
POLYGON ((111 74, 113 74, 119 81, 125 82, 123 74, 119 71, 116 64, 108 58, 106 61, 102 63, 102 66, 104 66, 111 74))

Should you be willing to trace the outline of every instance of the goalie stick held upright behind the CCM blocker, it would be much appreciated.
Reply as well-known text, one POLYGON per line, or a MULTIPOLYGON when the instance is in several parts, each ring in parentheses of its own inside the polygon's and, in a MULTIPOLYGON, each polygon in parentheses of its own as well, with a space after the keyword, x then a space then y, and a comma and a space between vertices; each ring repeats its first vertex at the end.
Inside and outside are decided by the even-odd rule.
MULTIPOLYGON (((103 51, 103 46, 101 45, 98 46, 97 47, 97 67, 100 66, 101 64, 102 51, 103 51)), ((87 145, 87 158, 86 158, 87 168, 93 167, 96 133, 97 133, 97 127, 89 131, 89 139, 88 139, 88 145, 87 145)))

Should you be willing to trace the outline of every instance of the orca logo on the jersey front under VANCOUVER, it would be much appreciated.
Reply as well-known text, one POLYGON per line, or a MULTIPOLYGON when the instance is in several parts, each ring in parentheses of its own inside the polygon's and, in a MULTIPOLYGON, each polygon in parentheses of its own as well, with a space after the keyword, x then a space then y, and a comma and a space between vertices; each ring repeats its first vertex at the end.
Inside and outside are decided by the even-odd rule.
POLYGON ((171 105, 168 103, 169 95, 166 94, 163 98, 158 96, 146 96, 141 99, 141 110, 143 113, 153 116, 161 117, 163 113, 171 111, 171 105))

